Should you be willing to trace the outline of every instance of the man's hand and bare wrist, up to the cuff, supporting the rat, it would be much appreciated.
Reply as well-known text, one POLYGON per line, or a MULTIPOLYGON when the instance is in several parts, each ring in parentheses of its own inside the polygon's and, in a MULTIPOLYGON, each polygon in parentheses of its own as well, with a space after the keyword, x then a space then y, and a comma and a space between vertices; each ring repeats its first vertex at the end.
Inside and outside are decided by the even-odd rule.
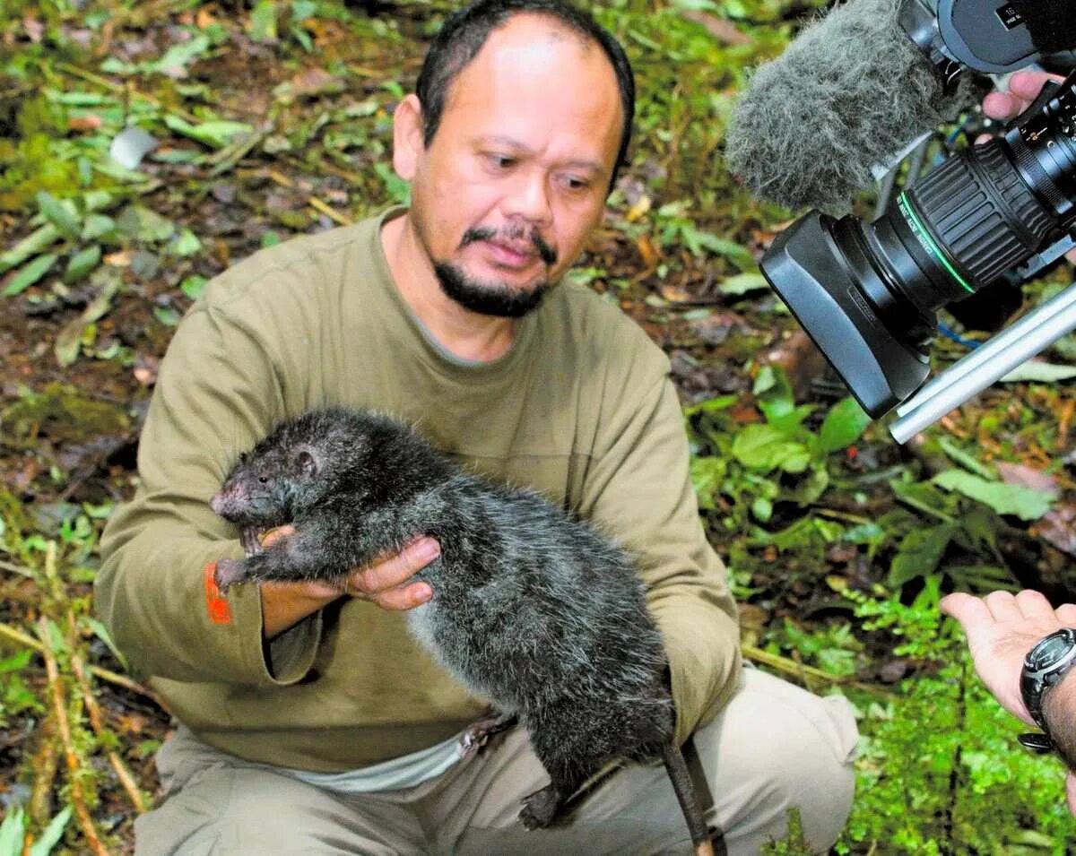
MULTIPOLYGON (((264 540, 270 546, 295 529, 283 526, 264 540)), ((384 610, 410 610, 429 600, 434 591, 428 583, 408 581, 441 553, 431 538, 420 538, 395 556, 385 556, 366 568, 355 568, 348 575, 326 582, 261 583, 261 613, 265 636, 272 639, 292 625, 343 595, 377 603, 384 610)))

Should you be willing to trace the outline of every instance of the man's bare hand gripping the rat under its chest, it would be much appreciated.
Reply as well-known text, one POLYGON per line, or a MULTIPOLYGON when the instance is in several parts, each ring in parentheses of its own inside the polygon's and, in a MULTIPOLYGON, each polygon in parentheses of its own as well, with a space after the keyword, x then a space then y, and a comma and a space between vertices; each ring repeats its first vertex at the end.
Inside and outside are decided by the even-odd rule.
MULTIPOLYGON (((273 529, 263 539, 263 544, 270 546, 294 531, 292 526, 273 529)), ((339 580, 263 585, 289 586, 296 594, 313 600, 331 600, 350 595, 377 603, 384 610, 410 610, 429 600, 434 591, 428 583, 408 583, 408 580, 440 554, 437 541, 420 538, 397 555, 385 556, 366 568, 355 568, 339 580)))

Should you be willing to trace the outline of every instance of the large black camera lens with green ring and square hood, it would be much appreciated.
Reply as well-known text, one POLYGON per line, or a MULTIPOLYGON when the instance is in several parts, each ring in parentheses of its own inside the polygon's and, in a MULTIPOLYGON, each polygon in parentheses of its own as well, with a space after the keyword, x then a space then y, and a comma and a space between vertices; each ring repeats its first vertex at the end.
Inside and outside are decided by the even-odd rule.
POLYGON ((811 212, 763 257, 763 274, 872 416, 926 379, 938 308, 1076 222, 1076 73, 1017 122, 946 160, 874 223, 811 212))

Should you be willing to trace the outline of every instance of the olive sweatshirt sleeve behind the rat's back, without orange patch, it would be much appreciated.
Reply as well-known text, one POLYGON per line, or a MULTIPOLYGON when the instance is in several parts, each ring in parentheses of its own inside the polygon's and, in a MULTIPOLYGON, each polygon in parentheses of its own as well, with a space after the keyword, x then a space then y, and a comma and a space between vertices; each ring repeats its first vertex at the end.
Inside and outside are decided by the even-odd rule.
POLYGON ((669 659, 682 743, 736 687, 737 612, 724 565, 698 516, 676 389, 667 373, 641 391, 633 393, 633 386, 626 382, 604 397, 610 410, 600 420, 580 513, 614 533, 639 559, 669 659))

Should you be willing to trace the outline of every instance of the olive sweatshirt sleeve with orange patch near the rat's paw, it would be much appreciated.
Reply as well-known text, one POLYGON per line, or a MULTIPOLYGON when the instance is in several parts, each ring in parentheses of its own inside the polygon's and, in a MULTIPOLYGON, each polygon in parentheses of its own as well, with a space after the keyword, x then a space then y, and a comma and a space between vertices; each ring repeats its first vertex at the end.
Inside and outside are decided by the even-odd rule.
POLYGON ((161 362, 139 442, 139 485, 101 539, 95 599, 136 673, 185 682, 288 684, 309 670, 321 613, 263 641, 254 585, 226 597, 208 566, 241 558, 209 508, 239 452, 283 415, 281 374, 257 337, 197 304, 161 362))

